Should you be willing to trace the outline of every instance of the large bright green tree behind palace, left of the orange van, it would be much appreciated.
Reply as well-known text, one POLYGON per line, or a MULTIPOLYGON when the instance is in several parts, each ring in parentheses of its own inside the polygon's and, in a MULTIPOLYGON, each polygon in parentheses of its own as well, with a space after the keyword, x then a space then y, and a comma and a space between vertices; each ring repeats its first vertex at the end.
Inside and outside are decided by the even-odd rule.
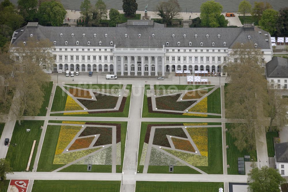
POLYGON ((223 20, 221 16, 223 6, 215 1, 206 1, 200 7, 200 19, 202 26, 206 27, 226 27, 228 20, 223 20), (221 25, 220 25, 221 24, 221 25))

